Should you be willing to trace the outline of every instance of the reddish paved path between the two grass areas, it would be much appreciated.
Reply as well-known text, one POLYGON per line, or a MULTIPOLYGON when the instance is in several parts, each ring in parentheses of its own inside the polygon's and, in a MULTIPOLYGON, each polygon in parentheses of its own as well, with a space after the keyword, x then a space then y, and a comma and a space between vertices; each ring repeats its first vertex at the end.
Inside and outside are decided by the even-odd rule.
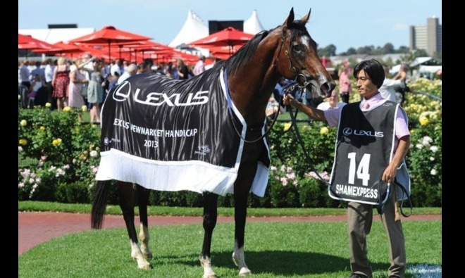
MULTIPOLYGON (((378 217, 376 217, 378 219, 378 217)), ((136 218, 138 223, 138 218, 136 218)), ((345 221, 346 216, 247 217, 247 222, 345 221)), ((442 220, 442 215, 411 215, 402 221, 442 220)), ((234 217, 218 217, 218 223, 234 222, 234 217)), ((200 216, 149 216, 149 225, 202 225, 200 216)), ((122 215, 105 215, 103 229, 125 227, 122 215)), ((90 230, 90 215, 80 213, 18 212, 18 256, 30 248, 63 234, 90 230)))

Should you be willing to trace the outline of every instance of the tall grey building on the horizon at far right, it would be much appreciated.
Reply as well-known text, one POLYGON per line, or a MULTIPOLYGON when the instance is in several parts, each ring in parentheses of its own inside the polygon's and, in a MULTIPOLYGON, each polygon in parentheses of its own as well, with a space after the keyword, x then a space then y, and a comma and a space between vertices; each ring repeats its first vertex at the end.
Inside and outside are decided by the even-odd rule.
POLYGON ((442 53, 442 25, 439 18, 433 16, 426 20, 426 25, 410 26, 410 51, 417 49, 423 49, 433 57, 442 53))

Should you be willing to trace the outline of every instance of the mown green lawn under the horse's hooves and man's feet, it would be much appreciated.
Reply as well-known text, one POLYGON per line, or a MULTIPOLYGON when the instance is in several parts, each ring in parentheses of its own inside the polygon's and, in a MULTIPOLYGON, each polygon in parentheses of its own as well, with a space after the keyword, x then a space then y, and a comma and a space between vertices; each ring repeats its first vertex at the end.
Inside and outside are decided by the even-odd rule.
MULTIPOLYGON (((441 221, 402 223, 408 269, 442 265, 441 221)), ((137 227, 137 231, 138 231, 137 227)), ((125 228, 68 234, 26 251, 18 258, 18 277, 202 277, 199 253, 202 225, 149 227, 152 270, 138 270, 130 257, 125 228)), ((234 224, 218 223, 211 246, 218 277, 237 277, 233 264, 234 224)), ((254 277, 349 277, 346 222, 250 222, 246 262, 254 277)), ((380 221, 368 236, 374 278, 387 277, 387 238, 380 221)), ((407 270, 407 278, 414 277, 407 270)))

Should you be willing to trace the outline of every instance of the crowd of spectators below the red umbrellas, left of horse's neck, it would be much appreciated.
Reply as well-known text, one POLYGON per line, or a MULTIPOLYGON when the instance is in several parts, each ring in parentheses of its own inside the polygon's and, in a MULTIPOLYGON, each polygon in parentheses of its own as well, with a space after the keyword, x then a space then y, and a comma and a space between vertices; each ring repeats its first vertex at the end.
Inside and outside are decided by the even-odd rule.
POLYGON ((182 59, 154 65, 150 58, 141 63, 116 59, 108 63, 88 53, 76 59, 59 57, 46 61, 18 62, 18 94, 23 108, 51 104, 51 110, 64 107, 87 106, 90 122, 100 122, 100 108, 106 94, 116 85, 132 75, 154 72, 179 80, 186 80, 206 70, 205 57, 192 67, 182 59), (22 94, 21 91, 24 93, 22 94))

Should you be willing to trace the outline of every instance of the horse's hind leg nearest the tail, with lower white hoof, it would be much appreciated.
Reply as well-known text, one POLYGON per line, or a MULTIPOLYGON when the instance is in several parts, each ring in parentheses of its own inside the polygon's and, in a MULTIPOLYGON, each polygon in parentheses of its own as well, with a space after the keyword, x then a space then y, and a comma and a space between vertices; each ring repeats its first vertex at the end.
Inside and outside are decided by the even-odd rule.
POLYGON ((134 191, 130 182, 118 182, 120 194, 120 208, 123 211, 124 222, 131 245, 131 257, 137 261, 137 267, 141 269, 150 269, 149 262, 142 255, 139 243, 137 241, 137 232, 134 225, 134 191))

